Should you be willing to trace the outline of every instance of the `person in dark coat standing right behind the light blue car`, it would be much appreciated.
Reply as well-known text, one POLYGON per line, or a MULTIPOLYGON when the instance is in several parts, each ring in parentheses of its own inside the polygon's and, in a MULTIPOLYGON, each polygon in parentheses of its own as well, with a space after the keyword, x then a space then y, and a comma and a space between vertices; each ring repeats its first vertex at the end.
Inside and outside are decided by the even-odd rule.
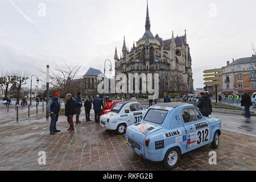
POLYGON ((197 107, 205 117, 209 117, 209 115, 212 113, 212 103, 204 91, 199 93, 199 101, 197 107))

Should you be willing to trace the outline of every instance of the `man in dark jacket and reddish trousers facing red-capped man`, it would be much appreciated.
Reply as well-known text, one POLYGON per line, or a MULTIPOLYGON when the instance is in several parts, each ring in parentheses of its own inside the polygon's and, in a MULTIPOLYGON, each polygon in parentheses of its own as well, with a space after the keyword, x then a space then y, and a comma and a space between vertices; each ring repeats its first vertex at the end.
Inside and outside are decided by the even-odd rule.
POLYGON ((65 105, 65 116, 67 116, 68 123, 69 123, 69 133, 72 133, 75 131, 74 129, 74 122, 73 122, 73 115, 76 114, 77 110, 77 104, 76 101, 72 98, 72 94, 66 95, 66 105, 65 105))

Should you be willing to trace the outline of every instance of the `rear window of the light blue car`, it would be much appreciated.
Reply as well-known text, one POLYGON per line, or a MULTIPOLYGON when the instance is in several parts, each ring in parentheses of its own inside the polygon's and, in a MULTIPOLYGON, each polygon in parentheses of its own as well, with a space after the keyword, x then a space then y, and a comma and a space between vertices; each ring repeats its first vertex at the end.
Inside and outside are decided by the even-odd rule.
POLYGON ((144 121, 149 121, 161 125, 166 118, 168 110, 150 109, 144 117, 144 121))

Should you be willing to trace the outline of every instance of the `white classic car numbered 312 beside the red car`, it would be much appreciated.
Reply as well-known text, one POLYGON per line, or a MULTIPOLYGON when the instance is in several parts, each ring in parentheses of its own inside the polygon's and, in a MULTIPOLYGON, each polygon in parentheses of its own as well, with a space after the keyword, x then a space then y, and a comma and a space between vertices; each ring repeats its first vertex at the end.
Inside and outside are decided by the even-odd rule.
POLYGON ((101 116, 100 125, 122 134, 127 126, 141 122, 144 113, 146 110, 139 102, 118 102, 109 113, 101 116))

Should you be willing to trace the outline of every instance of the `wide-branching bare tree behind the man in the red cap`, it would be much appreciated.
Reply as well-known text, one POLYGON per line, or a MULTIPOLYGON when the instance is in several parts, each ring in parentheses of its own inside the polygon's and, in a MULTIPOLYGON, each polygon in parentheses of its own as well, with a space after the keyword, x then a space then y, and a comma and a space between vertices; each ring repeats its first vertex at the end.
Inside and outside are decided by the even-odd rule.
MULTIPOLYGON (((64 62, 63 65, 55 65, 55 71, 53 71, 49 78, 54 89, 59 89, 60 94, 65 96, 68 93, 71 86, 72 80, 76 77, 77 72, 81 68, 80 64, 77 65, 68 65, 64 62)), ((42 69, 38 69, 39 72, 46 74, 42 69)))

